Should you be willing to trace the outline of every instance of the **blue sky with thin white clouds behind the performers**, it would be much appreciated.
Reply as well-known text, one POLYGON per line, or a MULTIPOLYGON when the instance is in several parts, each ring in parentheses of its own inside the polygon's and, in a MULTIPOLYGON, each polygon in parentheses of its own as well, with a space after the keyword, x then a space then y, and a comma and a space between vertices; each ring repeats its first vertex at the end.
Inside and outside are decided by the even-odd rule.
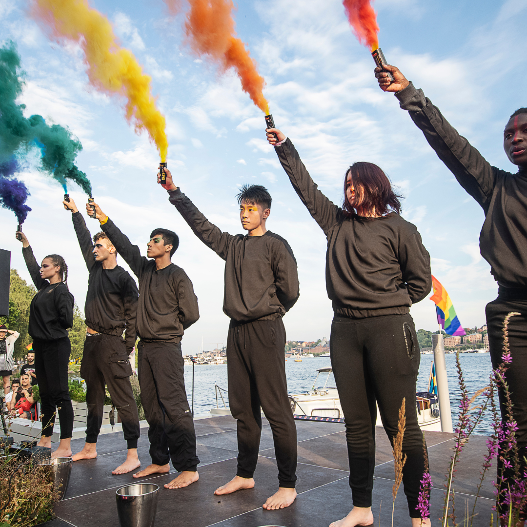
MULTIPOLYGON (((124 47, 152 76, 153 93, 167 118, 169 168, 174 179, 222 230, 242 232, 235 194, 243 183, 265 184, 274 199, 268 228, 285 237, 298 261, 300 298, 285 317, 290 339, 329 337, 332 310, 325 290, 326 240, 292 190, 265 142, 262 113, 232 73, 193 56, 184 44, 183 16, 171 19, 161 0, 92 1, 110 18, 124 47)), ((379 42, 388 62, 421 87, 446 118, 492 164, 515 171, 502 148, 503 126, 525 101, 524 26, 527 0, 377 0, 379 42), (517 52, 517 54, 516 54, 517 52), (518 89, 519 87, 519 89, 518 89)), ((183 352, 225 343, 223 261, 205 247, 155 183, 159 158, 148 137, 126 123, 122 101, 87 84, 79 48, 48 41, 26 14, 27 4, 0 0, 0 40, 18 45, 26 72, 21 102, 26 115, 68 126, 82 141, 79 168, 94 197, 116 225, 145 244, 155 227, 178 232, 175 264, 187 271, 201 318, 183 339, 183 352)), ((342 199, 346 168, 377 163, 404 193, 403 216, 415 223, 432 257, 432 272, 452 297, 464 326, 484 323, 497 286, 479 254, 483 211, 437 159, 423 135, 384 94, 374 63, 350 31, 339 0, 241 0, 238 36, 265 77, 265 95, 277 126, 295 143, 321 190, 342 199)), ((62 190, 36 168, 21 174, 33 211, 24 230, 37 259, 62 254, 70 288, 84 305, 87 271, 62 190)), ((79 189, 71 189, 77 203, 79 189)), ((96 221, 86 220, 92 233, 96 221)), ((28 278, 16 221, 0 209, 2 248, 28 278)), ((122 259, 119 260, 123 265, 122 259)), ((126 267, 124 265, 124 267, 126 267)), ((436 329, 430 300, 412 307, 417 328, 436 329)))

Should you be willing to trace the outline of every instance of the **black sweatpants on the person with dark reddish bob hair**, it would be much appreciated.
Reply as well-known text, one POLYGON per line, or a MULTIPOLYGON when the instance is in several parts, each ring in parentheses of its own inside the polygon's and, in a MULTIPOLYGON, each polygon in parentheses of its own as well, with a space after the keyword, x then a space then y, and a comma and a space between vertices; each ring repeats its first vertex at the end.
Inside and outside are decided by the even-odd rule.
POLYGON ((412 317, 386 315, 351 319, 335 315, 331 324, 330 353, 346 423, 353 505, 372 506, 375 402, 393 446, 399 408, 406 397, 403 454, 407 459, 403 485, 410 517, 420 518, 416 507, 424 473, 424 451, 415 390, 421 355, 412 317))

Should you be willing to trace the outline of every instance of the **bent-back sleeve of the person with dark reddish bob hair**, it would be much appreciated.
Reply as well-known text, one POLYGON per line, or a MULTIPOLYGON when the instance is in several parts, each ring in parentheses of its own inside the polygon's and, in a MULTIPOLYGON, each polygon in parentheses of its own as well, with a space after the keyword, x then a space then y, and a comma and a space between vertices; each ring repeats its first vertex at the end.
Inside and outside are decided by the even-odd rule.
POLYGON ((398 260, 403 272, 403 282, 407 285, 408 295, 412 304, 416 304, 423 300, 432 288, 430 255, 418 232, 401 243, 398 260))

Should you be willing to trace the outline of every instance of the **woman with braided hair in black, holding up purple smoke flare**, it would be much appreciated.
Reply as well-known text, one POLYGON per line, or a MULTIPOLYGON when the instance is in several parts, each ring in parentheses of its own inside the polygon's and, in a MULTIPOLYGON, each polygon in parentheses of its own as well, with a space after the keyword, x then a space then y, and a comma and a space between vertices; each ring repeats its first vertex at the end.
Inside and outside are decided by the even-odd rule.
MULTIPOLYGON (((71 354, 68 329, 73 326, 74 299, 67 287, 67 266, 59 255, 46 256, 42 266, 39 266, 25 234, 16 234, 21 238, 27 270, 37 289, 37 294, 31 300, 27 330, 33 337, 35 372, 41 400, 42 438, 37 447, 51 450, 51 436, 58 410, 61 441, 51 456, 70 457, 73 406, 67 385, 71 354)), ((43 455, 46 455, 45 451, 43 455)))

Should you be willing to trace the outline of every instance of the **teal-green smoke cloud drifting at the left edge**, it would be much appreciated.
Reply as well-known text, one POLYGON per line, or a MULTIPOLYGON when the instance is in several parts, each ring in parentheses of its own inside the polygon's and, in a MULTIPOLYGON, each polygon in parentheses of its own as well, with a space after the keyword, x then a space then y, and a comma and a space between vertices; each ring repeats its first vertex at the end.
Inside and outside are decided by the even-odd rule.
POLYGON ((82 150, 81 142, 63 126, 48 125, 41 115, 26 119, 25 105, 16 104, 16 97, 22 93, 21 75, 20 56, 10 42, 0 48, 0 163, 10 163, 14 152, 22 155, 37 147, 41 151, 40 170, 51 174, 63 187, 66 179, 71 179, 91 196, 90 181, 73 164, 82 150))

